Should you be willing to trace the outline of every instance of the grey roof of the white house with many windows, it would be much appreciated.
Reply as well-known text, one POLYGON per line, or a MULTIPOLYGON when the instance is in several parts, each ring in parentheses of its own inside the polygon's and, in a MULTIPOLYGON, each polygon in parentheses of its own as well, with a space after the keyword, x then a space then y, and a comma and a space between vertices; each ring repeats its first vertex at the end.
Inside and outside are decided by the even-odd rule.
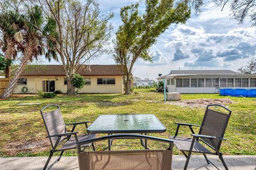
POLYGON ((170 74, 239 74, 231 70, 172 70, 170 74))

